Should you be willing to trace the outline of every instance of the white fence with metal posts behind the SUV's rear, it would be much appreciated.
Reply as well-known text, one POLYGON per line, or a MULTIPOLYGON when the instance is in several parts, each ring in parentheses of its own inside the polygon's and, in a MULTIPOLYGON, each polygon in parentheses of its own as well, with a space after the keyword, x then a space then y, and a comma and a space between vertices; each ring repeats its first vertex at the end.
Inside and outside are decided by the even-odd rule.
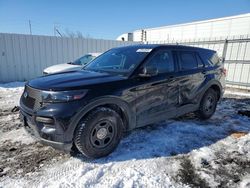
POLYGON ((240 36, 230 39, 196 39, 172 41, 147 41, 147 44, 180 44, 208 48, 217 51, 227 70, 227 86, 250 89, 250 37, 240 36))

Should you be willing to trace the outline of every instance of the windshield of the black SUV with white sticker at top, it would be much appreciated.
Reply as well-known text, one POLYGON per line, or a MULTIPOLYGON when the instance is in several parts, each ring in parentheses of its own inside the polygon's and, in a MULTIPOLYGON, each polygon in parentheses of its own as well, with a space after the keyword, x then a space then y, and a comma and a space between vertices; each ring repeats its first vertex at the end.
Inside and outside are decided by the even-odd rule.
POLYGON ((150 51, 140 47, 114 48, 91 61, 84 69, 128 74, 150 51))

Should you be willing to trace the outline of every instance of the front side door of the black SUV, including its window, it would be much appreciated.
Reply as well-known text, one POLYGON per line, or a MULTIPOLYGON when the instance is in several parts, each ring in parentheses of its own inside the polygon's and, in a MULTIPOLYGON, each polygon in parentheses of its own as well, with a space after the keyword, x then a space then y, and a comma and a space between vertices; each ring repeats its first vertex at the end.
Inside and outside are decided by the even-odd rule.
POLYGON ((156 68, 157 74, 136 78, 137 86, 133 90, 136 92, 137 126, 174 117, 179 96, 176 66, 170 50, 159 49, 143 66, 156 68))

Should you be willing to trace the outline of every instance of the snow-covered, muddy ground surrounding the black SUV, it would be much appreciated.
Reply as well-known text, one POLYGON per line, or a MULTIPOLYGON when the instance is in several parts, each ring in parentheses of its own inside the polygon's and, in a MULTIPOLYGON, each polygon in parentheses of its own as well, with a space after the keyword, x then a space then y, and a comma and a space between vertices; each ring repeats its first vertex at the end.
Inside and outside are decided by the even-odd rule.
POLYGON ((215 115, 134 130, 108 157, 88 160, 43 146, 10 110, 23 83, 0 85, 0 187, 250 187, 250 109, 230 93, 215 115))

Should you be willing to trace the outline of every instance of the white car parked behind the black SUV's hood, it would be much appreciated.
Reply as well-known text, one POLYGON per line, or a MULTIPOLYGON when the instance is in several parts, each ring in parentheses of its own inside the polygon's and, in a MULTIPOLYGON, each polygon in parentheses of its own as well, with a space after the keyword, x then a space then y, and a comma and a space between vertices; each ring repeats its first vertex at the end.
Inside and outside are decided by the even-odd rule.
POLYGON ((46 75, 46 74, 54 74, 58 72, 79 70, 101 54, 102 53, 88 53, 80 57, 79 59, 75 60, 74 62, 58 64, 58 65, 47 67, 46 69, 43 70, 43 74, 46 75))

